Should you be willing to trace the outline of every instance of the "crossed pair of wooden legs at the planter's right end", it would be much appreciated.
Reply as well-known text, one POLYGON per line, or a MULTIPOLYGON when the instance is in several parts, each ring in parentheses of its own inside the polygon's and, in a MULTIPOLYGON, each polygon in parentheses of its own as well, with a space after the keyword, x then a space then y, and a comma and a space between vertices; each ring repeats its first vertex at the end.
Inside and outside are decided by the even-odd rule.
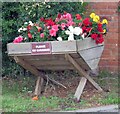
POLYGON ((86 73, 79 64, 71 57, 70 54, 65 54, 66 59, 75 67, 75 69, 78 71, 79 75, 83 76, 80 80, 80 83, 77 87, 77 90, 75 92, 75 97, 79 101, 81 94, 83 92, 83 89, 86 85, 87 80, 98 90, 103 91, 103 89, 89 76, 88 73, 86 73))

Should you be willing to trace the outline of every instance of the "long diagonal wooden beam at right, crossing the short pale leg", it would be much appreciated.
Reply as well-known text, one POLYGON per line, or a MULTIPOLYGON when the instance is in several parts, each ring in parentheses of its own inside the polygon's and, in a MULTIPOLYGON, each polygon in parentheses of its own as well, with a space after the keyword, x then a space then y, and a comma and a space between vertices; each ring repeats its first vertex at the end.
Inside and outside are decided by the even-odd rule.
POLYGON ((71 57, 70 54, 65 54, 65 57, 69 62, 76 68, 79 75, 84 76, 89 82, 98 90, 103 91, 103 89, 79 66, 79 64, 71 57))

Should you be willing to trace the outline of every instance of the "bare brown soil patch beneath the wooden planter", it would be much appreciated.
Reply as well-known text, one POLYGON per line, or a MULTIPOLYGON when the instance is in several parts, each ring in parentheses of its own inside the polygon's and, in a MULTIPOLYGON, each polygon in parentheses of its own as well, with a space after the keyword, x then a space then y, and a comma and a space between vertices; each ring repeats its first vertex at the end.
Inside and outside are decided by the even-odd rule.
MULTIPOLYGON (((67 72, 66 75, 64 75, 64 72, 57 72, 56 75, 49 75, 49 77, 54 78, 54 80, 66 86, 66 89, 49 83, 46 85, 43 93, 43 95, 46 97, 52 95, 65 98, 69 94, 74 94, 81 79, 81 77, 73 71, 71 71, 71 73, 67 72)), ((98 94, 98 91, 87 81, 82 98, 89 99, 95 93, 98 94)))

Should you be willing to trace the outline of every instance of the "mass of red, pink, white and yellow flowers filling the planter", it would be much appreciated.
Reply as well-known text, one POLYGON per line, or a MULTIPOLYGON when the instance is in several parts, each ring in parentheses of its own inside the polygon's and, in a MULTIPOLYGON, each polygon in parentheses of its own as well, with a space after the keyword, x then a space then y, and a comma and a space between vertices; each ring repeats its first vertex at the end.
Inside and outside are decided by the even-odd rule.
POLYGON ((91 37, 99 44, 104 41, 103 35, 107 33, 107 24, 106 19, 101 20, 95 13, 86 18, 82 18, 80 14, 73 17, 67 12, 58 13, 55 19, 42 17, 37 23, 25 22, 18 30, 20 36, 13 42, 71 41, 91 37))

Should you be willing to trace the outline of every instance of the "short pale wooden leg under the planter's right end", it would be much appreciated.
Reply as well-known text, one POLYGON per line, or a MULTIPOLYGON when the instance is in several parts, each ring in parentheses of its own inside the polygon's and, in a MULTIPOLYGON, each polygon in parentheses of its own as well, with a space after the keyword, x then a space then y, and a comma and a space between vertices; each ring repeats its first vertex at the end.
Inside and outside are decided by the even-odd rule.
POLYGON ((83 92, 83 89, 85 88, 86 82, 87 82, 87 79, 85 77, 82 77, 74 95, 77 101, 80 100, 80 97, 83 92))

